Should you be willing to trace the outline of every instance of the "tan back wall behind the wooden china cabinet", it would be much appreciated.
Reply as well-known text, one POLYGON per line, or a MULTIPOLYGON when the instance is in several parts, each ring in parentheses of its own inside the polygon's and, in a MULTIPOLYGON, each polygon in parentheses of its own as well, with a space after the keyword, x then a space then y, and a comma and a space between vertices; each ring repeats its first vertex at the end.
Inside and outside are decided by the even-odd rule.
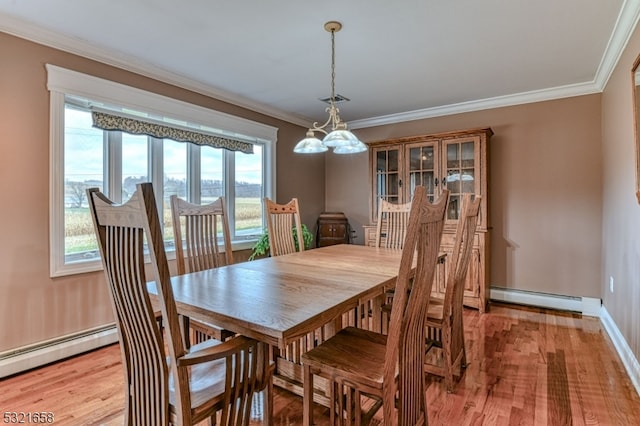
MULTIPOLYGON (((355 131, 364 141, 491 127, 492 286, 569 296, 601 292, 601 95, 355 131)), ((326 204, 368 221, 368 155, 327 157, 326 204)))

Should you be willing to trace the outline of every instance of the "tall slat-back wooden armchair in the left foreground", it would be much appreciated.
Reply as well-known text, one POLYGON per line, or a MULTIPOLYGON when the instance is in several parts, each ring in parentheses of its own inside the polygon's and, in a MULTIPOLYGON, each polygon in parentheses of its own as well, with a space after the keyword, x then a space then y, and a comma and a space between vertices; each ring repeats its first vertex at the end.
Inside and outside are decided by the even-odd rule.
POLYGON ((261 389, 269 423, 272 365, 262 343, 237 336, 184 346, 151 184, 138 184, 122 205, 97 188, 87 190, 87 199, 120 340, 125 424, 192 425, 210 419, 246 425, 253 395, 261 389), (146 280, 147 251, 165 320, 164 341, 148 291, 154 284, 146 280))

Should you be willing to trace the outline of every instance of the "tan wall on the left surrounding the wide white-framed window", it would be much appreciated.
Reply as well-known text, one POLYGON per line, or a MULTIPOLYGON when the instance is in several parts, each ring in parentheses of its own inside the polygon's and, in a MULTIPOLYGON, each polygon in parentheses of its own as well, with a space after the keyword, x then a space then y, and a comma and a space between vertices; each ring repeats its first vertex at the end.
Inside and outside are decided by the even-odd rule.
POLYGON ((278 127, 277 199, 297 196, 308 225, 324 208, 324 159, 291 161, 306 129, 4 33, 0 52, 0 352, 113 321, 102 272, 49 278, 45 63, 278 127))

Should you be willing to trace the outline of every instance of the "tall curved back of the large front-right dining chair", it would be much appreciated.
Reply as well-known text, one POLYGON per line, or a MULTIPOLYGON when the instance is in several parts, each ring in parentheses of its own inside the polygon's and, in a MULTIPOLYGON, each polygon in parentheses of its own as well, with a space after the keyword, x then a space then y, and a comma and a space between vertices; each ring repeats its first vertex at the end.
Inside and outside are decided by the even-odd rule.
POLYGON ((398 424, 401 425, 427 424, 423 373, 425 322, 448 196, 449 191, 443 190, 432 204, 424 187, 418 186, 409 213, 391 308, 383 390, 384 418, 394 418, 397 396, 398 424), (415 274, 412 274, 414 264, 415 274), (393 385, 396 373, 397 389, 393 385))

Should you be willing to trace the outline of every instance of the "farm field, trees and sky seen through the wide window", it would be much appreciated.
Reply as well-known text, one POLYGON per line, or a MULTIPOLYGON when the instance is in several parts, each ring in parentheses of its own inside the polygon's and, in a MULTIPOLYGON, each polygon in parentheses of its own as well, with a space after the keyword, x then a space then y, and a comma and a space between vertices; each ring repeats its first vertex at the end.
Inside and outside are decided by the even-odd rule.
POLYGON ((225 196, 231 234, 236 241, 256 239, 263 231, 263 147, 259 144, 254 146, 253 154, 243 154, 208 146, 193 148, 188 143, 158 140, 145 135, 106 132, 92 127, 90 111, 67 105, 64 147, 67 262, 94 259, 99 255, 86 189, 97 187, 114 201, 126 202, 137 183, 153 181, 152 176, 159 175, 154 168, 159 168, 162 176, 161 182, 154 182, 154 189, 156 196, 163 199, 163 232, 168 249, 173 247, 169 198, 174 194, 202 204, 225 196), (160 156, 158 150, 154 152, 153 144, 161 144, 160 156), (229 164, 225 162, 225 155, 234 156, 233 176, 225 166, 229 164), (199 176, 194 177, 190 172, 194 167, 200 170, 199 176), (114 173, 120 174, 121 178, 115 181, 114 173), (235 182, 233 197, 225 194, 225 179, 235 182), (113 187, 108 188, 109 185, 113 187), (189 188, 193 185, 199 188, 195 196, 199 200, 191 200, 189 196, 189 188))

